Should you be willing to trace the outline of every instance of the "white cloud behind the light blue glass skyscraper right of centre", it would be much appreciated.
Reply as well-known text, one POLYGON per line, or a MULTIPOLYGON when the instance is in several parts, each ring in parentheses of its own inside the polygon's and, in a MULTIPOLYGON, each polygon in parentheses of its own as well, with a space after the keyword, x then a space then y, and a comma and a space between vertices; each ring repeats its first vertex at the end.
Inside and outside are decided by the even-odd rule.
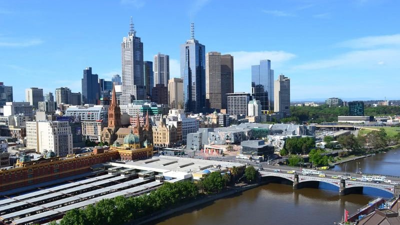
POLYGON ((251 70, 251 65, 256 65, 259 60, 270 59, 274 67, 284 61, 294 58, 296 55, 285 51, 231 51, 227 52, 233 56, 234 70, 251 70))

